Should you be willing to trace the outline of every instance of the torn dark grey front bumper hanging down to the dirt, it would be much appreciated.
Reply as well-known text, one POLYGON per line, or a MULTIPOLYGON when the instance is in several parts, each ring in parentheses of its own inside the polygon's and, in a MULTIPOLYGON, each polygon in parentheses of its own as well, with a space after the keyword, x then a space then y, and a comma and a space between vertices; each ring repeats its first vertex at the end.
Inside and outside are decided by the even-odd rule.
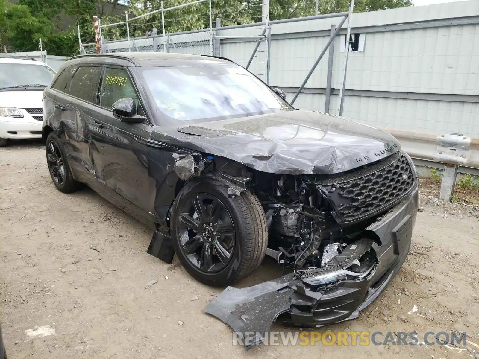
POLYGON ((321 282, 326 268, 307 274, 290 273, 248 288, 228 287, 203 310, 242 333, 247 349, 262 343, 274 321, 290 326, 321 327, 355 319, 399 272, 409 252, 417 210, 416 188, 365 229, 368 239, 356 245, 364 247, 362 252, 356 253, 355 249, 361 248, 354 247, 355 244, 350 246, 354 249, 350 258, 331 269, 338 280, 321 282), (357 260, 355 255, 366 251, 374 254, 375 263, 365 266, 360 274, 345 275, 344 269, 357 260))

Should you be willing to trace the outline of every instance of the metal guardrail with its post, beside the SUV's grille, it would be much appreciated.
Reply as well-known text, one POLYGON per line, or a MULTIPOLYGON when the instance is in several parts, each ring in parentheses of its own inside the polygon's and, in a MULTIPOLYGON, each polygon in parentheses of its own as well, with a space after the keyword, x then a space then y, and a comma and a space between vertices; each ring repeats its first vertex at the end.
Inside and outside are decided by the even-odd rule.
POLYGON ((401 143, 412 158, 444 163, 439 198, 451 201, 459 166, 479 168, 479 138, 462 134, 430 134, 417 131, 381 128, 401 143))

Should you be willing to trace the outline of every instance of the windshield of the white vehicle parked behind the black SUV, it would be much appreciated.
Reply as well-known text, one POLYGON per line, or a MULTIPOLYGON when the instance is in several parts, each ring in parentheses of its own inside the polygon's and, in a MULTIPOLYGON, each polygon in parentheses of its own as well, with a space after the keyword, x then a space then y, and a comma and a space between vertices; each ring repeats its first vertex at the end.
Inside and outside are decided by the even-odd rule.
POLYGON ((0 89, 22 85, 49 86, 54 76, 55 71, 43 65, 0 64, 0 89))

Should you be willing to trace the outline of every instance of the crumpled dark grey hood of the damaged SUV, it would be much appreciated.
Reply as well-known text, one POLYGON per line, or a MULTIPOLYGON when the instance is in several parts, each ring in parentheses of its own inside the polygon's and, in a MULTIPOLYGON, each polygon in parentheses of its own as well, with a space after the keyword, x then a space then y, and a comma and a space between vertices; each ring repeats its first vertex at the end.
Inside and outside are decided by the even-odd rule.
POLYGON ((295 175, 344 172, 400 148, 392 135, 374 127, 305 110, 176 129, 157 127, 152 139, 227 157, 260 171, 295 175))

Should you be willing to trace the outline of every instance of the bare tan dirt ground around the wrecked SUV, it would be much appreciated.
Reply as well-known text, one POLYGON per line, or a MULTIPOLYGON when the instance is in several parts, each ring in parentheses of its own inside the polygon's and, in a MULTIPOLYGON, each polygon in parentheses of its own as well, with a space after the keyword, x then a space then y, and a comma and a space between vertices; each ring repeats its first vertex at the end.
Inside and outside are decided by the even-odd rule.
MULTIPOLYGON (((466 331, 466 350, 317 344, 245 351, 232 345, 227 325, 202 312, 221 289, 197 282, 176 259, 168 265, 149 256, 151 232, 90 189, 57 191, 40 143, 0 148, 0 321, 9 359, 474 357, 479 209, 440 202, 430 191, 421 193, 421 207, 392 285, 357 320, 327 329, 417 331, 420 338, 466 331), (151 280, 158 282, 147 286, 151 280), (419 310, 407 314, 414 305, 419 310), (55 334, 25 333, 44 325, 55 334)), ((265 260, 241 285, 279 275, 265 260)))

